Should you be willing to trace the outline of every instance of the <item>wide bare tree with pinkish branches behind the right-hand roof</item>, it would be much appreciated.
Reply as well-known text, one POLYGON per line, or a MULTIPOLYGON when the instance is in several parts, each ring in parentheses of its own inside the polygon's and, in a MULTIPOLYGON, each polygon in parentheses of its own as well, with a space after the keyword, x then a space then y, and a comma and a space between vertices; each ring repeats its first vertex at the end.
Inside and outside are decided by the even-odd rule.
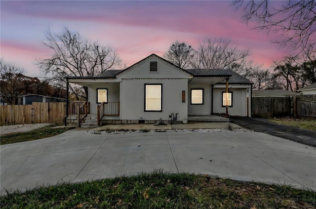
POLYGON ((231 39, 208 39, 198 45, 195 68, 223 69, 245 62, 249 49, 240 49, 231 39))

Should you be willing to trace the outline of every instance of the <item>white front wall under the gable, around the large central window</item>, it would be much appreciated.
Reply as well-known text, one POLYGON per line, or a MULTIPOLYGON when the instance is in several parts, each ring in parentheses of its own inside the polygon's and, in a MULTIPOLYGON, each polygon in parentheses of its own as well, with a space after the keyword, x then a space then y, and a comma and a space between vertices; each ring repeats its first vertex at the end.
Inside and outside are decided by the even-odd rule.
POLYGON ((122 79, 121 120, 170 120, 171 113, 179 113, 178 120, 188 115, 188 79, 122 79), (162 112, 144 111, 144 84, 162 84, 162 112), (186 91, 182 102, 182 91, 186 91))

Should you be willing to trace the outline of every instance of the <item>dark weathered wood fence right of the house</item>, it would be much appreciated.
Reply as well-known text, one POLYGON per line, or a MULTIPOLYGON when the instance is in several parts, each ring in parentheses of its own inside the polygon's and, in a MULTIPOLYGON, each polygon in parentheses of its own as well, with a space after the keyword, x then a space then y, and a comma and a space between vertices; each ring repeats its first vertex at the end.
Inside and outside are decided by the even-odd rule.
POLYGON ((316 95, 252 98, 252 117, 284 116, 316 119, 316 95))

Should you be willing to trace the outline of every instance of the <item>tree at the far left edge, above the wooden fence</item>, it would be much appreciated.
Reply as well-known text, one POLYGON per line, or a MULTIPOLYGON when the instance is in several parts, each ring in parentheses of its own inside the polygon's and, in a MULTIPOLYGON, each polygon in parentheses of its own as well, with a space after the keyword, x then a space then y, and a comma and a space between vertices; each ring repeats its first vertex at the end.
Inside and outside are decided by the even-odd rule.
POLYGON ((17 96, 21 95, 24 89, 23 72, 23 69, 6 64, 3 58, 0 59, 0 94, 8 104, 16 104, 17 96))

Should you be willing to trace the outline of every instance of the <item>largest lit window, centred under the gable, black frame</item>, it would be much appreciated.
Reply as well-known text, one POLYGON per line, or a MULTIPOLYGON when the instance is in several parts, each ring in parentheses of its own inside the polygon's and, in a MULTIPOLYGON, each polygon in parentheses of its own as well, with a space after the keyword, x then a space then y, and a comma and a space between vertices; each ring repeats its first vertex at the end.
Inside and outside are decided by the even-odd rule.
POLYGON ((145 110, 162 111, 161 109, 162 84, 145 84, 145 110))

